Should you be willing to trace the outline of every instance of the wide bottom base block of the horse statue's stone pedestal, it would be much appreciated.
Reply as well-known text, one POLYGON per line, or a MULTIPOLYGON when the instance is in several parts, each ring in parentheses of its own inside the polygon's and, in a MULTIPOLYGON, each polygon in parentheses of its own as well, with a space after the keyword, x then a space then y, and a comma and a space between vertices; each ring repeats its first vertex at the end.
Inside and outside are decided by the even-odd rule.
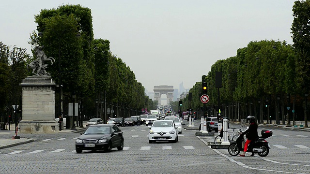
POLYGON ((20 133, 58 133, 59 124, 56 121, 27 121, 19 122, 20 133))

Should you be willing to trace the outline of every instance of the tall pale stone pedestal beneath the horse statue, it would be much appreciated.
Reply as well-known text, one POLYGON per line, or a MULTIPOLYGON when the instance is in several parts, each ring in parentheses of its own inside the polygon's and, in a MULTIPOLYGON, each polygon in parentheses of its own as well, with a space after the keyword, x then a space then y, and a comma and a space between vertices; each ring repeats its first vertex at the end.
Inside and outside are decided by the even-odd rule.
POLYGON ((19 85, 23 91, 20 132, 58 133, 59 126, 55 121, 56 84, 51 76, 28 76, 19 85))

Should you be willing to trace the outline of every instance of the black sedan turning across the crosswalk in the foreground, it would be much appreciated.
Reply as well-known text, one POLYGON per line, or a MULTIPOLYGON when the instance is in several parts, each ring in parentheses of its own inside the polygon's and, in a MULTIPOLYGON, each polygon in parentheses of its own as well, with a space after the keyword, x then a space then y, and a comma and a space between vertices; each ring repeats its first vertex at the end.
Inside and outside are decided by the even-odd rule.
POLYGON ((124 136, 123 131, 111 124, 91 125, 76 140, 77 153, 82 153, 83 150, 110 152, 114 147, 123 150, 124 136))

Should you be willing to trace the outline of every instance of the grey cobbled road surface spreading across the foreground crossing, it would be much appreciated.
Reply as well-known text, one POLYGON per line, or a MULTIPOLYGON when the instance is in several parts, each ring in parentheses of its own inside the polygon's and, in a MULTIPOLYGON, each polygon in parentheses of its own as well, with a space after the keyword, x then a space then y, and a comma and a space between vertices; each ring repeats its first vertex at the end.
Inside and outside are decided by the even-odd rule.
MULTIPOLYGON (((231 125, 235 127, 238 125, 231 125)), ((262 130, 263 128, 259 128, 262 130)), ((211 149, 214 137, 183 130, 177 143, 149 144, 149 129, 124 127, 124 150, 75 152, 78 133, 28 134, 36 141, 0 149, 2 174, 309 174, 310 133, 272 129, 267 157, 232 157, 211 149)))

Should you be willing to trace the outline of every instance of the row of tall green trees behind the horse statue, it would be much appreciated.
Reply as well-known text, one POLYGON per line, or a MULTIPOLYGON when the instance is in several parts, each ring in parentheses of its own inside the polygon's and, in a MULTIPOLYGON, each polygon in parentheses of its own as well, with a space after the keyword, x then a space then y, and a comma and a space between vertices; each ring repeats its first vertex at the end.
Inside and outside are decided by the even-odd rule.
MULTIPOLYGON (((82 104, 81 115, 85 119, 101 116, 106 120, 108 116, 125 117, 140 114, 142 108, 152 109, 153 101, 145 95, 130 67, 111 53, 109 41, 93 38, 91 9, 80 5, 44 9, 35 15, 35 22, 38 25, 30 35, 31 51, 34 53, 37 46, 44 45, 47 57, 55 58, 47 72, 60 84, 57 94, 63 92, 63 108, 59 102, 61 95, 56 95, 56 117, 67 115, 69 102, 82 104)), ((33 75, 26 65, 35 58, 25 49, 10 50, 3 43, 0 53, 0 110, 2 119, 7 121, 11 105, 21 105, 18 84, 33 75)))

